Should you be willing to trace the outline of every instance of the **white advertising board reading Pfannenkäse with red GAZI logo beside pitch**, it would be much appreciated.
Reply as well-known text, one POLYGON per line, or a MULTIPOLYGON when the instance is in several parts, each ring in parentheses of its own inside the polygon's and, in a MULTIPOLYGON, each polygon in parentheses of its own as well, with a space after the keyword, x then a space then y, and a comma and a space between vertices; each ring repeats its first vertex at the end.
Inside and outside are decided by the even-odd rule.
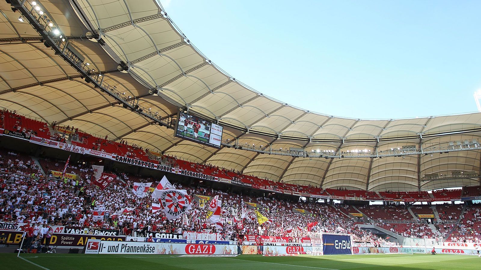
POLYGON ((99 254, 238 254, 237 245, 102 241, 99 254))

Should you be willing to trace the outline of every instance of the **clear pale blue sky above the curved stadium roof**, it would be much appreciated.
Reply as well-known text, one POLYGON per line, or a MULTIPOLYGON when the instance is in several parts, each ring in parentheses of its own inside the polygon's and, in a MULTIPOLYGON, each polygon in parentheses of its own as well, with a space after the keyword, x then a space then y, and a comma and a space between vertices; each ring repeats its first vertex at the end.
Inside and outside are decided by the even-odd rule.
POLYGON ((481 1, 161 2, 211 61, 305 110, 361 119, 477 110, 481 1))

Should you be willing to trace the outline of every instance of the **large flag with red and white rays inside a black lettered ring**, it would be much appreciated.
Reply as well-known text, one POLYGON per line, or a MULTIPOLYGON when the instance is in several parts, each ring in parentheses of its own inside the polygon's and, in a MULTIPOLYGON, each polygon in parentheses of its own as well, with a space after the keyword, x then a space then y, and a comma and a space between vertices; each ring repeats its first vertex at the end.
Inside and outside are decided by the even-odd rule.
POLYGON ((164 209, 165 216, 169 220, 176 220, 187 210, 192 209, 190 197, 185 189, 164 189, 155 197, 159 200, 164 209))

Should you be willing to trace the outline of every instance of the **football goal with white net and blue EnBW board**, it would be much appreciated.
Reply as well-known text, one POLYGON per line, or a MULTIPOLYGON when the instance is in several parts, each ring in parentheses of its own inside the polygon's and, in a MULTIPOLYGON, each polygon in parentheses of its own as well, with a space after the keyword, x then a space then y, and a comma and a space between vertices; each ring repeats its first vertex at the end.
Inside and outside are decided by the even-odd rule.
POLYGON ((313 255, 353 255, 352 237, 346 233, 309 233, 313 255))

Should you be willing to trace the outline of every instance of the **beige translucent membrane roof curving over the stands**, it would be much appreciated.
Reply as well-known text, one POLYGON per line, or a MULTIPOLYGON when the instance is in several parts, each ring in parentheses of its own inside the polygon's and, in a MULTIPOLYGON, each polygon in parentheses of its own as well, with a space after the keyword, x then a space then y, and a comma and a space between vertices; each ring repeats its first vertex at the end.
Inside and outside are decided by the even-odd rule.
MULTIPOLYGON (((307 152, 384 151, 403 146, 442 147, 480 140, 481 114, 400 120, 360 120, 310 112, 266 97, 223 72, 174 27, 154 0, 41 0, 69 43, 123 98, 161 117, 179 107, 218 120, 223 139, 264 149, 307 152), (84 17, 85 16, 85 17, 84 17), (87 18, 87 20, 81 20, 87 18), (96 42, 99 34, 105 45, 96 42), (87 38, 89 36, 89 38, 87 38), (118 71, 120 61, 128 73, 118 71), (130 98, 129 98, 130 97, 130 98)), ((222 147, 174 137, 152 120, 124 108, 93 87, 27 22, 0 2, 0 106, 89 133, 125 139, 180 159, 212 164, 294 184, 373 191, 429 190, 479 184, 480 179, 422 182, 430 173, 480 172, 480 151, 403 157, 292 157, 222 147)))

